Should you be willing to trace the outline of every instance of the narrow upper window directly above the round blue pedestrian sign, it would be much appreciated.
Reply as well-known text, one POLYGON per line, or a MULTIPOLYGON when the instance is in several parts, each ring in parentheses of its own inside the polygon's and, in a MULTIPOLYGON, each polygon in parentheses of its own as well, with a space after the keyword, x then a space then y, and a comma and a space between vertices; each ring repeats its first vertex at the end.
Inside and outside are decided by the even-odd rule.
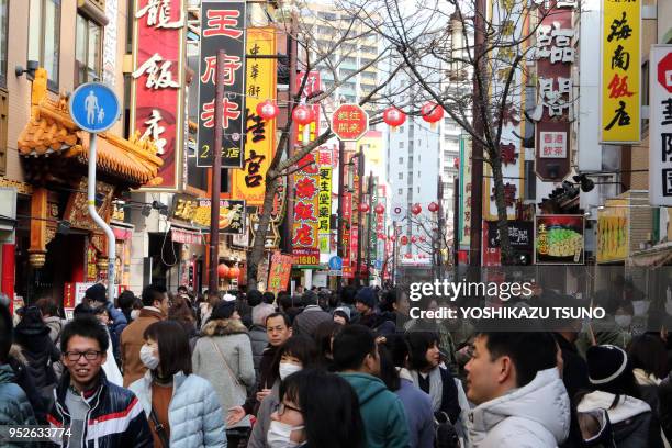
POLYGON ((102 26, 77 14, 75 86, 100 79, 102 26))

